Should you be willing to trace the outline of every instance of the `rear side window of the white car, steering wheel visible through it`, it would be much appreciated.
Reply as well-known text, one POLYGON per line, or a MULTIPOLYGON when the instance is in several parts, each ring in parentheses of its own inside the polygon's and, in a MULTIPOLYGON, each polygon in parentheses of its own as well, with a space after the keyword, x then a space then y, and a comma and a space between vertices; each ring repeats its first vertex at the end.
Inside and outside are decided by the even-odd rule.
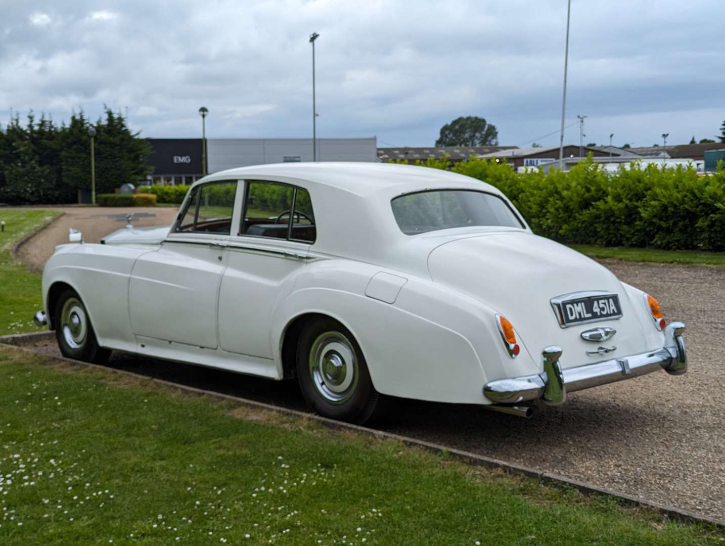
POLYGON ((314 243, 317 228, 309 192, 289 184, 249 181, 239 234, 314 243))

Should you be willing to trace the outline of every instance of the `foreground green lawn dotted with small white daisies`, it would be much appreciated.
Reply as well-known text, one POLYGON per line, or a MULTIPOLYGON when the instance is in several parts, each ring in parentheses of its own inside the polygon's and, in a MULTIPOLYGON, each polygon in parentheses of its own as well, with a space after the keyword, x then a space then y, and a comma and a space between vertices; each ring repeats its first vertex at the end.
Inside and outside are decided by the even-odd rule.
MULTIPOLYGON (((391 440, 0 348, 0 544, 703 545, 391 440)), ((240 378, 240 381, 244 379, 240 378)))

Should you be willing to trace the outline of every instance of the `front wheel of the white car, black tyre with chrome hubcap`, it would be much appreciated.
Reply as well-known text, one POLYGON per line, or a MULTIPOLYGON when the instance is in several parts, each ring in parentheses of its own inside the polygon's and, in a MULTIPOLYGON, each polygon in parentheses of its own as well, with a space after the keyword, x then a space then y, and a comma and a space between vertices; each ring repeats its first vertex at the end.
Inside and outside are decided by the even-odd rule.
POLYGON ((63 356, 94 364, 104 364, 110 349, 99 347, 86 306, 72 289, 60 294, 55 306, 55 336, 63 356))

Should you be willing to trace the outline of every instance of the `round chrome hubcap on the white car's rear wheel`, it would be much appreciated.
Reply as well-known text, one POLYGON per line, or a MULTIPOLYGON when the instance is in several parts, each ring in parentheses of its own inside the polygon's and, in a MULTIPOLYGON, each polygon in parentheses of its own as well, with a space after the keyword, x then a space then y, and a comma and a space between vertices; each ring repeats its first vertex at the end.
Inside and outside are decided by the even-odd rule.
POLYGON ((331 331, 320 334, 310 348, 310 378, 333 404, 347 402, 357 388, 357 358, 347 337, 331 331))

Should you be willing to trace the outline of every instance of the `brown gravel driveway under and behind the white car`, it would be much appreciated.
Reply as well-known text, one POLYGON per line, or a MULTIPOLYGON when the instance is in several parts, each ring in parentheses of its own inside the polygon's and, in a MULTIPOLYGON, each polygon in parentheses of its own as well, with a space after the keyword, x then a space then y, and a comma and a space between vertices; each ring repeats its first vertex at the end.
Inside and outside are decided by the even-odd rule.
MULTIPOLYGON (((689 371, 653 373, 542 406, 525 420, 481 408, 391 400, 379 429, 588 481, 725 520, 725 268, 606 262, 687 324, 689 371)), ((56 352, 54 346, 46 351, 56 352)), ((265 381, 119 353, 109 364, 305 409, 295 381, 265 381)))

